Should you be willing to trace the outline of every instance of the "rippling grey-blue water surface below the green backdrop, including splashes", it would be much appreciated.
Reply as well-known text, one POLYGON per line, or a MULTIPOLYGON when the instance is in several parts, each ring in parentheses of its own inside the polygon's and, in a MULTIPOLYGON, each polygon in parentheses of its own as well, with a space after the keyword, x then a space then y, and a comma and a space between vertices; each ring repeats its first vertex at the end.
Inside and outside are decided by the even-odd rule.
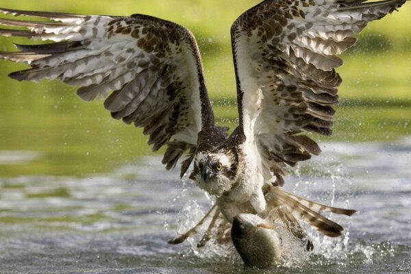
MULTIPOLYGON (((286 188, 358 210, 331 216, 338 239, 310 230, 314 252, 268 273, 410 273, 411 139, 394 144, 326 143, 286 188)), ((4 151, 13 164, 35 154, 4 151)), ((263 273, 242 269, 228 247, 166 243, 201 218, 210 201, 191 182, 143 158, 92 177, 0 178, 0 272, 263 273)), ((267 272, 265 272, 267 273, 267 272)))

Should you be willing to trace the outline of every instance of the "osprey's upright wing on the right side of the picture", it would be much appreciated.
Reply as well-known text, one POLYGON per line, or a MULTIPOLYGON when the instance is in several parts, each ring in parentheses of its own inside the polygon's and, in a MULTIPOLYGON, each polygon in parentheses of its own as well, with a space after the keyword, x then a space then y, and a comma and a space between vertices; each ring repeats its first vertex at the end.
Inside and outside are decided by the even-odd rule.
POLYGON ((284 183, 285 164, 321 152, 301 132, 332 134, 341 84, 335 68, 343 64, 338 55, 367 23, 405 1, 266 0, 234 22, 240 128, 277 185, 284 183))

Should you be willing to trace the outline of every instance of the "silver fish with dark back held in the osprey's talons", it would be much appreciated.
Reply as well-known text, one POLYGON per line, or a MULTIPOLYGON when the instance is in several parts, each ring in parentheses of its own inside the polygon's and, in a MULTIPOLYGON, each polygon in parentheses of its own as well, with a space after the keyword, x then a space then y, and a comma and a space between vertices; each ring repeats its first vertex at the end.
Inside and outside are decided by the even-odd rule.
POLYGON ((279 263, 282 240, 267 219, 254 214, 238 214, 232 223, 231 236, 245 266, 269 269, 279 263))

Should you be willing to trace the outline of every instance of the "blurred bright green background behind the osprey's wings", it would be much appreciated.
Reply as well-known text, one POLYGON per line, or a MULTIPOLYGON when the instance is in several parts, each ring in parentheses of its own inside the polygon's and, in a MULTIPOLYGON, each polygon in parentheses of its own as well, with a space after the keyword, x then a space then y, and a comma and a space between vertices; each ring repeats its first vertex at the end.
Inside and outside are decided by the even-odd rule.
MULTIPOLYGON (((197 37, 218 122, 236 126, 232 22, 256 0, 4 1, 0 6, 82 14, 150 14, 188 27, 197 37)), ((411 3, 371 23, 355 49, 343 55, 344 79, 334 136, 320 141, 395 142, 411 133, 411 3)), ((0 50, 14 50, 0 38, 0 50)), ((151 155, 140 129, 113 121, 101 101, 85 103, 59 82, 16 82, 8 73, 25 66, 0 61, 0 176, 75 175, 114 171, 151 155), (10 162, 10 151, 38 151, 10 162)), ((160 164, 160 163, 159 163, 160 164)), ((138 168, 136 166, 136 168, 138 168)))

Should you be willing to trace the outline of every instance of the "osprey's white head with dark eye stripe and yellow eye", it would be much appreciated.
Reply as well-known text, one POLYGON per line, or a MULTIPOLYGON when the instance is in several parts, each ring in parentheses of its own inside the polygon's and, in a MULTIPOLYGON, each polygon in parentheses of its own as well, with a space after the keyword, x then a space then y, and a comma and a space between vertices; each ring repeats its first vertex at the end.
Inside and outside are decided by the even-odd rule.
POLYGON ((190 179, 211 195, 221 197, 236 183, 237 162, 232 151, 201 151, 195 155, 190 179))

